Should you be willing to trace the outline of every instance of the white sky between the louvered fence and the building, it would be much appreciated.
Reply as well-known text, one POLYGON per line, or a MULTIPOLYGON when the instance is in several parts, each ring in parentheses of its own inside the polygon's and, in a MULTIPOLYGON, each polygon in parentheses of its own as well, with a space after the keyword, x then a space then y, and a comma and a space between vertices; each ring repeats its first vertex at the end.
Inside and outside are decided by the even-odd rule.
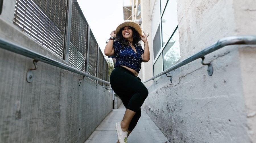
POLYGON ((123 0, 77 0, 102 53, 110 33, 123 23, 123 0))

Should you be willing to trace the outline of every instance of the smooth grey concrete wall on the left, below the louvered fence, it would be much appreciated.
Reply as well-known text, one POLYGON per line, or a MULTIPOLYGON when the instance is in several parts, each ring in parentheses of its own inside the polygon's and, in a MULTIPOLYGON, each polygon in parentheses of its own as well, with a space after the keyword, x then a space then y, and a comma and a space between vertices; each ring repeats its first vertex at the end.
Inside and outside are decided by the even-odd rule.
MULTIPOLYGON (((6 1, 4 1, 5 3, 6 1)), ((13 16, 13 14, 12 14, 13 16)), ((0 16, 0 38, 67 64, 0 16)), ((112 111, 112 94, 82 75, 0 49, 0 142, 83 143, 112 111)))

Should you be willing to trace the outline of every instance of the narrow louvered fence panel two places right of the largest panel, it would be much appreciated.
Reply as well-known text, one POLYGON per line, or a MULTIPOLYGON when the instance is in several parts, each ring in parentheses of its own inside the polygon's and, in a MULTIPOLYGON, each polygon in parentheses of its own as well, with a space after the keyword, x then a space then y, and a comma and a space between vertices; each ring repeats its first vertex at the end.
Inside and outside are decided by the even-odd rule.
POLYGON ((96 76, 97 69, 97 53, 98 53, 98 45, 97 42, 90 32, 90 47, 89 47, 89 58, 88 58, 88 73, 90 75, 96 76))

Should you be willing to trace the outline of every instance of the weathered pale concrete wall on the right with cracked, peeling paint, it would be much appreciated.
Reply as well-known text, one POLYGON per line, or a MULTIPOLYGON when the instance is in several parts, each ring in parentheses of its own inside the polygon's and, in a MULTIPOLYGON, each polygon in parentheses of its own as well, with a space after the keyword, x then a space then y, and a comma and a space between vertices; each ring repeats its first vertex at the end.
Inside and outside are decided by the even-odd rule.
MULTIPOLYGON (((177 0, 181 60, 220 38, 255 34, 255 7, 254 0, 177 0)), ((198 59, 170 72, 172 83, 163 75, 148 86, 143 107, 170 142, 256 142, 255 47, 205 56, 212 76, 198 59)))

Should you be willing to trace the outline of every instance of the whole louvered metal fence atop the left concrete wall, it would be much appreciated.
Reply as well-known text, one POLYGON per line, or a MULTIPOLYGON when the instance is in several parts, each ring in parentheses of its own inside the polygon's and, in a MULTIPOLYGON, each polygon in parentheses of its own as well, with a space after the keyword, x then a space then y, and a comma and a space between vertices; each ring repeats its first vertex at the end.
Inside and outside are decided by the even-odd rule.
POLYGON ((108 80, 108 64, 76 0, 16 0, 13 23, 74 68, 108 80))

